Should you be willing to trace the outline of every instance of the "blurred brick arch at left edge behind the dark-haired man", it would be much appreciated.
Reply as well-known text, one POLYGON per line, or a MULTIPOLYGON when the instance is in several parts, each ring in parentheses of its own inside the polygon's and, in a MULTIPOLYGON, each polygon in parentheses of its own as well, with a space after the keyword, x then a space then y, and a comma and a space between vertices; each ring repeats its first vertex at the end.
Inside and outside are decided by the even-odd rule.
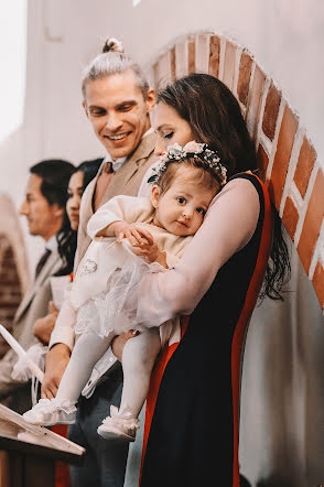
MULTIPOLYGON (((9 196, 0 195, 0 323, 8 329, 28 284, 28 259, 17 210, 9 196)), ((0 358, 7 349, 0 337, 0 358)))

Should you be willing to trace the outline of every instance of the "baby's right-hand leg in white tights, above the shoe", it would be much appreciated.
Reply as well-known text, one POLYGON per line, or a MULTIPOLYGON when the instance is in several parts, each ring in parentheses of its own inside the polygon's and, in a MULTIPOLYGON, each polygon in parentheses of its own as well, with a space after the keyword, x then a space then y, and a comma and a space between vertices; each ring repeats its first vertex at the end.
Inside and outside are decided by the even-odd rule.
POLYGON ((151 371, 160 351, 159 328, 148 328, 130 338, 122 353, 123 388, 119 413, 138 418, 147 399, 151 371))

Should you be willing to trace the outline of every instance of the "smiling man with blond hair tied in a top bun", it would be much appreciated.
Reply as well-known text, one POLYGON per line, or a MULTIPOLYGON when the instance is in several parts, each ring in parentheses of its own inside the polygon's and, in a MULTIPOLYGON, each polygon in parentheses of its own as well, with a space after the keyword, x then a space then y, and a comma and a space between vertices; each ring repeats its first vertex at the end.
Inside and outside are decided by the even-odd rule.
MULTIPOLYGON (((118 194, 137 195, 144 173, 156 159, 155 137, 150 129, 154 91, 149 89, 138 65, 117 52, 99 55, 86 71, 83 94, 86 116, 107 156, 82 199, 75 268, 90 242, 86 232, 90 216, 118 194)), ((60 325, 58 320, 50 342, 42 397, 55 397, 73 344, 74 329, 60 325)), ((106 442, 97 434, 110 404, 119 405, 122 388, 121 366, 110 349, 107 354, 106 359, 114 368, 94 393, 88 383, 89 399, 80 398, 77 421, 69 431, 69 439, 86 447, 84 466, 71 468, 74 487, 123 486, 128 445, 106 442)), ((102 370, 95 369, 96 380, 102 370)))

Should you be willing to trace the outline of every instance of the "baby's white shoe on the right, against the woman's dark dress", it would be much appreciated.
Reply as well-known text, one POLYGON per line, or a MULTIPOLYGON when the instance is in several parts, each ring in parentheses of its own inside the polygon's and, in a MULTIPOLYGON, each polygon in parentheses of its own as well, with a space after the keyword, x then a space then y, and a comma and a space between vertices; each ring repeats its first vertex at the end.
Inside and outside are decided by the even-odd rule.
POLYGON ((110 416, 107 416, 97 432, 105 440, 123 440, 133 442, 136 439, 139 420, 130 418, 131 413, 119 413, 118 408, 110 405, 110 416))

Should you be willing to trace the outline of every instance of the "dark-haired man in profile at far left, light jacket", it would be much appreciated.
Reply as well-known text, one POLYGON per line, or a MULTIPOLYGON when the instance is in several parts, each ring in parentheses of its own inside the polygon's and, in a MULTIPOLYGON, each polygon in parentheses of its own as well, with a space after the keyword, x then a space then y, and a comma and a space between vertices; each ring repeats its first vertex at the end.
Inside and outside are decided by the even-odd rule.
MULTIPOLYGON (((47 314, 52 299, 50 278, 60 270, 56 234, 61 230, 66 192, 74 165, 63 160, 46 160, 30 169, 25 199, 20 214, 28 219, 29 231, 45 241, 45 252, 36 266, 35 279, 23 296, 13 321, 13 336, 28 349, 36 343, 32 334, 35 321, 47 314)), ((22 413, 31 405, 30 383, 11 377, 17 354, 9 349, 0 361, 0 399, 22 413)))

